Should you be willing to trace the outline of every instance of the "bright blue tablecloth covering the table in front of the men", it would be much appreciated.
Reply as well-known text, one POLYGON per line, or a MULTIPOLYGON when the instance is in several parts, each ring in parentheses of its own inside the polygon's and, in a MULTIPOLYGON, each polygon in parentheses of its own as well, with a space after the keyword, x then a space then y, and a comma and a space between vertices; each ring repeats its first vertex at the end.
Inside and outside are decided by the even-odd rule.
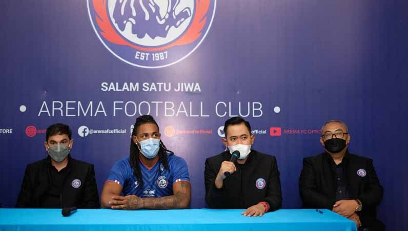
POLYGON ((244 217, 242 209, 78 209, 63 217, 61 209, 0 208, 0 230, 357 230, 353 221, 327 209, 321 211, 280 209, 263 217, 244 217))

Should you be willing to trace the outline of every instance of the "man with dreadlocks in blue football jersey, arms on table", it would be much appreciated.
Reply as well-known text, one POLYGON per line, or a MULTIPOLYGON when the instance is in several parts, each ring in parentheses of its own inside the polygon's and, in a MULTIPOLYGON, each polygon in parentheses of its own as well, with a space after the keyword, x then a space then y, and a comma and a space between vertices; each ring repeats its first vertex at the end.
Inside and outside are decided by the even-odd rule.
POLYGON ((101 206, 112 209, 187 208, 191 185, 187 163, 167 150, 150 115, 136 119, 130 156, 117 161, 102 190, 101 206))

